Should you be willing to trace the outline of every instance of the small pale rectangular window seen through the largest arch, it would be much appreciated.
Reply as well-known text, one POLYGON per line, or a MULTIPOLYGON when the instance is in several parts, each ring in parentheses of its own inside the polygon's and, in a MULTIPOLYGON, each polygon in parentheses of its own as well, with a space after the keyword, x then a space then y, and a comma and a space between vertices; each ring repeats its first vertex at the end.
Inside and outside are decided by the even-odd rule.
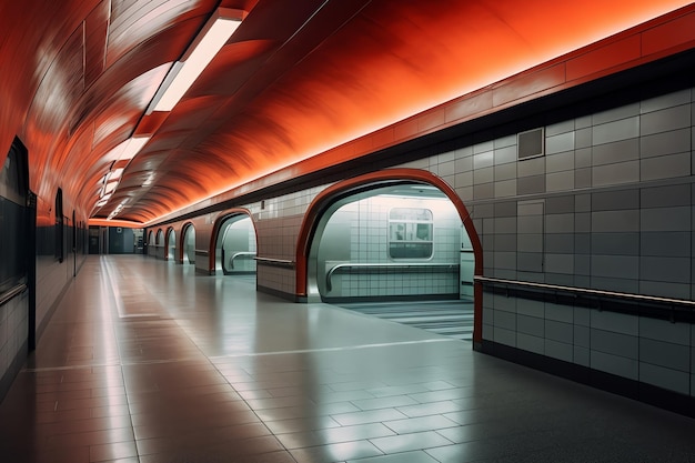
POLYGON ((389 212, 389 256, 392 259, 432 258, 432 211, 393 208, 389 212))

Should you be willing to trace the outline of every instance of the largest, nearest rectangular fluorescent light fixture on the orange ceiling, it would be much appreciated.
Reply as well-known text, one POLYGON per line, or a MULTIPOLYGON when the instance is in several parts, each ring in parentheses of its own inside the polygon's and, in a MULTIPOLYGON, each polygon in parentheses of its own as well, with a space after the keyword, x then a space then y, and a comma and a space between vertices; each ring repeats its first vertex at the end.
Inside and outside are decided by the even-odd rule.
POLYGON ((171 111, 232 37, 244 16, 242 10, 218 8, 181 60, 173 63, 145 113, 171 111))

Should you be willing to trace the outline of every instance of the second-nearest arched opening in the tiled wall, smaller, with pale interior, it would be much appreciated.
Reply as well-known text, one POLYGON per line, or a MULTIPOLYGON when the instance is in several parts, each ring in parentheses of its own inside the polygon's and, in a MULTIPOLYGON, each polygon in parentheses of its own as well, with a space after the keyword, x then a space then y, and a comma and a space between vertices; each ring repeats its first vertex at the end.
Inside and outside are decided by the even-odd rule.
POLYGON ((256 234, 248 211, 220 218, 213 240, 215 274, 255 274, 256 234))

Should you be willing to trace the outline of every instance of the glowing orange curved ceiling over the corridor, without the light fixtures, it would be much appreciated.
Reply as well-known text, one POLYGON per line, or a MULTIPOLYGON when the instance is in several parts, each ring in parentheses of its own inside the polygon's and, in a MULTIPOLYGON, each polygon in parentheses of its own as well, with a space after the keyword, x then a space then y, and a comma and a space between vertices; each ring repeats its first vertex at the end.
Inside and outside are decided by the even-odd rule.
POLYGON ((43 203, 62 188, 84 217, 152 223, 687 4, 3 2, 0 153, 14 135, 27 144, 43 203), (248 16, 171 112, 145 115, 218 7, 248 16), (133 133, 152 138, 132 161, 119 161, 133 133), (112 195, 97 207, 117 170, 112 195))

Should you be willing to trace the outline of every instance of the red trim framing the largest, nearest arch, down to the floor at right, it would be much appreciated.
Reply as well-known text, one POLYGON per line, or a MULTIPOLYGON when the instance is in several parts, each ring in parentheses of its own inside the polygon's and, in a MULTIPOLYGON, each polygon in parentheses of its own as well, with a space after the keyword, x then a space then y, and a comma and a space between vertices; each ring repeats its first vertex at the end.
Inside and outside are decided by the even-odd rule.
MULTIPOLYGON (((465 204, 459 198, 459 194, 441 178, 434 175, 432 172, 419 170, 419 169, 386 169, 376 172, 371 172, 364 175, 348 179, 342 182, 335 183, 314 198, 309 205, 296 242, 296 256, 295 256, 295 281, 296 281, 296 295, 306 296, 306 261, 309 259, 309 249, 311 246, 311 240, 313 238, 314 230, 319 224, 319 219, 326 210, 326 208, 333 203, 339 197, 344 193, 359 188, 374 185, 379 188, 381 183, 390 181, 415 181, 421 183, 427 183, 439 188, 446 197, 452 201, 463 227, 466 229, 473 245, 473 255, 475 256, 475 275, 483 274, 483 246, 481 245, 480 238, 473 227, 473 220, 466 209, 465 204)), ((480 343, 483 340, 483 289, 477 282, 473 284, 474 291, 474 326, 473 326, 473 342, 480 343)))

